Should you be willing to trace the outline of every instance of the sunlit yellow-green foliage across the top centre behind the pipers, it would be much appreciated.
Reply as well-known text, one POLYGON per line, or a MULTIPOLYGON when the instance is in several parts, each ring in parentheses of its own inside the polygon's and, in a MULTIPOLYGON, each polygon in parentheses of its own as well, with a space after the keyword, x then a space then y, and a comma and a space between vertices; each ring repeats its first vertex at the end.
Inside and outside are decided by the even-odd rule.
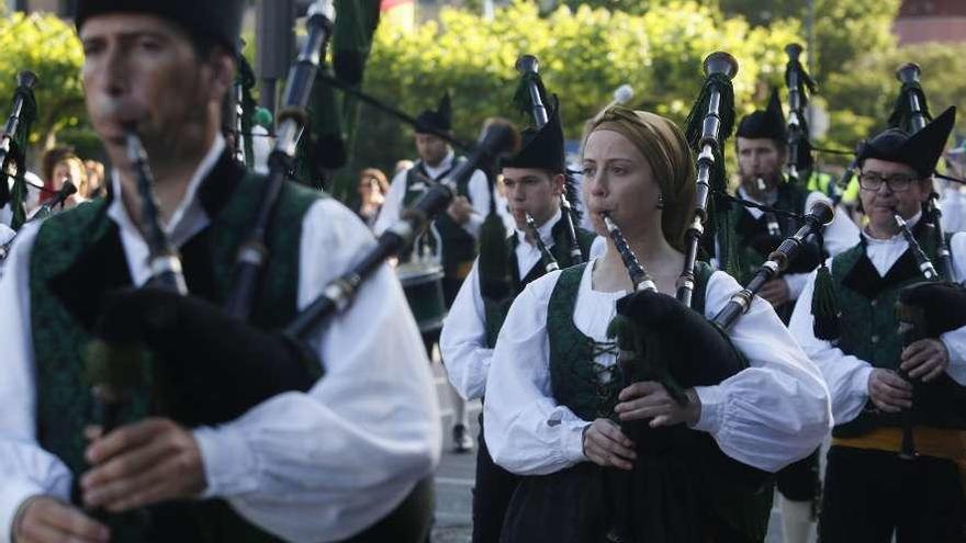
MULTIPOLYGON (((404 111, 435 106, 445 91, 453 99, 454 129, 475 136, 493 115, 515 116, 510 105, 521 54, 536 55, 548 89, 560 95, 564 131, 577 138, 586 118, 630 83, 634 105, 684 121, 703 81, 701 60, 716 49, 740 63, 735 79, 739 110, 754 109, 763 81, 777 84, 784 70, 782 47, 798 39, 797 22, 752 29, 741 18, 694 1, 663 1, 643 14, 561 7, 541 14, 533 2, 496 10, 492 21, 445 9, 439 22, 406 33, 383 25, 375 35, 364 88, 404 111)), ((411 132, 366 110, 357 139, 356 168, 391 168, 414 154, 411 132)))

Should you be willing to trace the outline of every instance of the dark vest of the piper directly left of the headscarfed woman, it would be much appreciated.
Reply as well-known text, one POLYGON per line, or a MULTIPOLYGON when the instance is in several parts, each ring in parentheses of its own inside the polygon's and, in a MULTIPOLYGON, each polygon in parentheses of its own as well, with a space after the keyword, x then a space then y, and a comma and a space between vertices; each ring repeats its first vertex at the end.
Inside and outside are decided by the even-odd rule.
MULTIPOLYGON (((570 254, 570 248, 566 242, 566 233, 564 230, 565 225, 563 218, 561 217, 557 224, 553 225, 553 228, 550 230, 551 236, 553 237, 553 246, 550 247, 550 252, 553 254, 553 258, 557 259, 558 264, 561 269, 570 268, 573 265, 573 259, 570 254)), ((581 253, 584 257, 584 261, 587 261, 587 258, 591 253, 591 246, 594 244, 594 238, 596 237, 594 233, 587 231, 583 228, 575 228, 577 235, 577 246, 581 248, 581 253)), ((493 349, 496 346, 496 338, 499 336, 499 329, 503 328, 503 321, 506 320, 506 314, 509 313, 509 307, 513 305, 514 299, 524 292, 524 287, 530 284, 532 281, 536 281, 539 278, 542 278, 546 273, 542 259, 538 261, 533 268, 526 274, 526 276, 519 276, 519 265, 517 265, 517 256, 516 248, 519 244, 517 236, 510 236, 506 239, 507 251, 509 254, 509 269, 510 269, 510 279, 512 279, 512 290, 510 295, 503 298, 495 298, 493 296, 488 296, 485 289, 482 289, 481 284, 481 295, 483 298, 483 308, 486 316, 486 347, 493 349)), ((480 258, 483 258, 482 256, 480 258)), ((482 278, 481 278, 482 281, 482 278)))

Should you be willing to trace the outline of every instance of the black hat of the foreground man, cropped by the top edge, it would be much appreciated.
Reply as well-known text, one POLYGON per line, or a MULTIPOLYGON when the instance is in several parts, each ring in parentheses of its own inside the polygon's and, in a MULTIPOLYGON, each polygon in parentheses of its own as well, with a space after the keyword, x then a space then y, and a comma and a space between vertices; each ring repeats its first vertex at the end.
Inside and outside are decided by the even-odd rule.
POLYGON ((193 36, 217 39, 238 52, 244 0, 76 0, 74 22, 80 32, 88 19, 104 13, 147 13, 180 24, 193 36))

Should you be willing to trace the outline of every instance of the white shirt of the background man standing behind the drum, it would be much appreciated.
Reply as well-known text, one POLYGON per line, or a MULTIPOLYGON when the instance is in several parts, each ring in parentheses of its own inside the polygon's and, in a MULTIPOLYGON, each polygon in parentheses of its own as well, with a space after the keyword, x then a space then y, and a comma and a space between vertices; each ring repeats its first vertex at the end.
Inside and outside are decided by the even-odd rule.
MULTIPOLYGON (((426 173, 429 173, 429 177, 436 180, 452 167, 454 158, 456 155, 450 150, 439 165, 433 167, 424 162, 423 166, 426 168, 426 173)), ((379 216, 375 218, 375 224, 372 227, 377 236, 400 219, 403 211, 403 200, 406 197, 406 176, 409 170, 403 170, 393 177, 389 194, 385 195, 385 203, 382 204, 382 210, 379 211, 379 216)), ((467 190, 470 193, 470 202, 474 213, 470 215, 470 219, 462 227, 473 238, 479 238, 480 227, 483 226, 483 220, 490 213, 490 182, 486 181, 486 174, 480 170, 474 170, 473 174, 470 176, 467 190)))

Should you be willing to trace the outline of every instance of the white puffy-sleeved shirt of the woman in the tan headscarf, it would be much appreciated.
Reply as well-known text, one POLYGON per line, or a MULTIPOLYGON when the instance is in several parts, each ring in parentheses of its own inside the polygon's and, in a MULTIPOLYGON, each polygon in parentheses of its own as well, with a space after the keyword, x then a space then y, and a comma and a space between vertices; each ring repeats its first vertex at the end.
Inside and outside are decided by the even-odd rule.
MULTIPOLYGON (((591 287, 595 262, 581 280, 573 323, 595 341, 606 341, 615 304, 625 293, 591 287)), ((547 306, 559 278, 560 272, 547 274, 516 298, 486 382, 483 420, 490 454, 521 475, 546 475, 587 461, 581 433, 592 421, 558 405, 550 389, 547 306)), ((705 315, 717 314, 739 289, 730 275, 715 272, 705 315)), ((763 299, 756 297, 728 335, 750 367, 718 385, 695 388, 701 415, 694 428, 710 433, 728 456, 776 472, 821 443, 831 422, 829 393, 818 369, 763 299)), ((595 361, 609 365, 616 357, 604 354, 595 361)))

